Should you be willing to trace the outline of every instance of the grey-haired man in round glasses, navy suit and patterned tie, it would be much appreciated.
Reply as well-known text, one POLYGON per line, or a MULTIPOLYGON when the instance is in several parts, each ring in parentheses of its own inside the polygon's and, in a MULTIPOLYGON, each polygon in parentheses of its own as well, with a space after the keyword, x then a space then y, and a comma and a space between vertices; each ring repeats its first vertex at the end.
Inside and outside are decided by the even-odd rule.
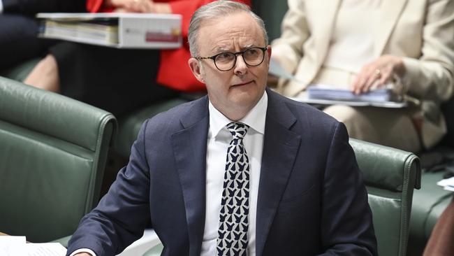
POLYGON ((263 21, 216 1, 194 13, 189 45, 207 97, 142 125, 68 255, 120 253, 150 219, 163 255, 376 255, 344 125, 265 90, 263 21))

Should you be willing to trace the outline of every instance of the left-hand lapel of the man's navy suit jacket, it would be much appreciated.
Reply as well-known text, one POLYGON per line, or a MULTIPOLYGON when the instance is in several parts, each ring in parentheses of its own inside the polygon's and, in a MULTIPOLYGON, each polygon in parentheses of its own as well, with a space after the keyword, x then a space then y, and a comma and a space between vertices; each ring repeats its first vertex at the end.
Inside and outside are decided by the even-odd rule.
POLYGON ((200 255, 205 227, 205 169, 209 125, 207 97, 194 101, 181 123, 183 129, 173 134, 172 145, 186 209, 189 255, 200 255))

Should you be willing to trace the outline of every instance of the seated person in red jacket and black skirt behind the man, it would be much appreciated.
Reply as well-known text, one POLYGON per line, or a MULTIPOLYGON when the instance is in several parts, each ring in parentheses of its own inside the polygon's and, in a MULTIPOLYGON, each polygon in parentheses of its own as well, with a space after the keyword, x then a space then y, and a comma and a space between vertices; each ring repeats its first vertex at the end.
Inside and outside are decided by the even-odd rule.
MULTIPOLYGON (((203 91, 205 85, 194 78, 187 64, 191 57, 187 34, 192 13, 211 1, 87 0, 91 13, 181 14, 183 45, 175 50, 128 50, 59 43, 24 83, 85 101, 117 116, 178 92, 203 91)), ((251 5, 251 0, 241 1, 251 5)))

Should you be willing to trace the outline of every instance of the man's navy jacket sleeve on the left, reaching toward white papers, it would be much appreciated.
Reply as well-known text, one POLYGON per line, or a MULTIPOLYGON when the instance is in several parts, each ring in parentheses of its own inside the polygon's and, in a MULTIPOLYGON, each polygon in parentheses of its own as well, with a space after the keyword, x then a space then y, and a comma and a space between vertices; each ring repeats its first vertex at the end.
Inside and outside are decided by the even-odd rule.
POLYGON ((89 248, 96 255, 117 255, 142 236, 149 222, 149 171, 145 127, 131 148, 129 164, 91 213, 82 218, 68 243, 68 254, 89 248))

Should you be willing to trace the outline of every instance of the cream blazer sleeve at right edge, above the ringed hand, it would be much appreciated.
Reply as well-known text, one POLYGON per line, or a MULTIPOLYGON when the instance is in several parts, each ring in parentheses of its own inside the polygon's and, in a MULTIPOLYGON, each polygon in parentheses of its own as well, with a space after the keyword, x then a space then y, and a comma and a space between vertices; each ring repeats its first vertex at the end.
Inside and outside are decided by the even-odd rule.
POLYGON ((419 99, 446 101, 454 90, 454 1, 428 0, 425 6, 420 11, 422 38, 410 38, 413 45, 421 41, 420 56, 403 57, 407 69, 403 82, 409 94, 419 99))

